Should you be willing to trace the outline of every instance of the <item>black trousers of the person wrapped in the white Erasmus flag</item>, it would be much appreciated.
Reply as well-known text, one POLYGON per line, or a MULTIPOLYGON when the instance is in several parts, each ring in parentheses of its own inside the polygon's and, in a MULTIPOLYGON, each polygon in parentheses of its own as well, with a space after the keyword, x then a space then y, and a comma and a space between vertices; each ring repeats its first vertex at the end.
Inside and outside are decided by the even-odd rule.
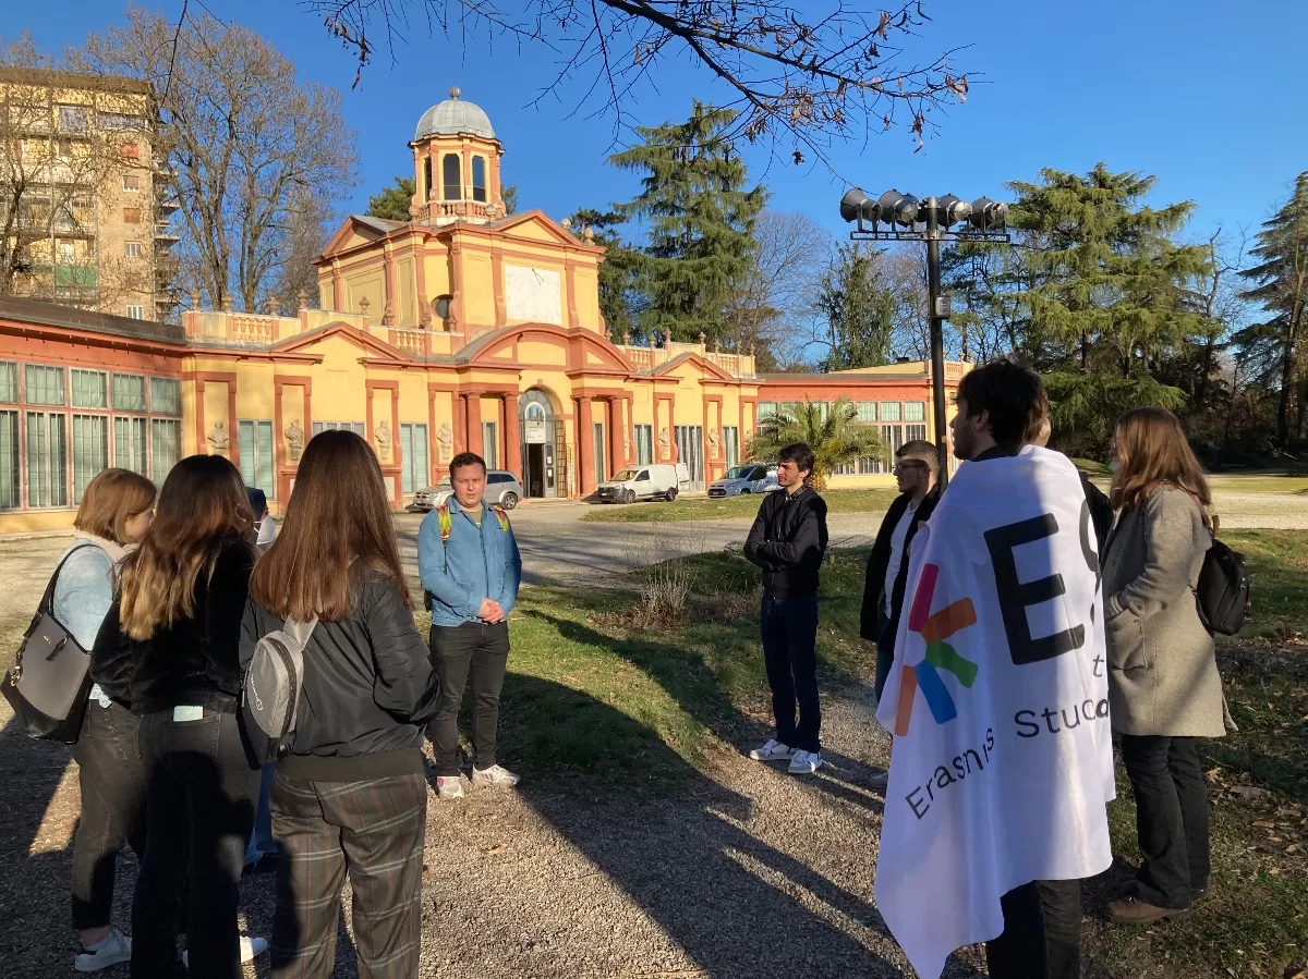
POLYGON ((1002 898, 1003 932, 985 944, 990 979, 1080 979, 1080 881, 1032 881, 1002 898))

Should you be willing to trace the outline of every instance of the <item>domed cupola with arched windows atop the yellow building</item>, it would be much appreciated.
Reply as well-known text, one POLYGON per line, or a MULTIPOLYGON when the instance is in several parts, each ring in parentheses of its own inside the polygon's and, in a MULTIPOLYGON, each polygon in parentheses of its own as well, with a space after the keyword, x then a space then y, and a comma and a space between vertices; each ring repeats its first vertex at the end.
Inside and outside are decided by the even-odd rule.
POLYGON ((422 114, 409 142, 413 150, 413 220, 429 225, 487 224, 505 214, 500 157, 490 119, 480 106, 450 98, 422 114))

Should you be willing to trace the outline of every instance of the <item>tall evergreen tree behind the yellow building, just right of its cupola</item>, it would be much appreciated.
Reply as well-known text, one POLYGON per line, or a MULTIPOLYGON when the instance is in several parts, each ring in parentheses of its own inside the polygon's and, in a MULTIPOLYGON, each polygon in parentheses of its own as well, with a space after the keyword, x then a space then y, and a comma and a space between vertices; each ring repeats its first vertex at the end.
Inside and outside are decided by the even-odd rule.
POLYGON ((640 316, 646 335, 731 341, 731 282, 748 268, 753 222, 768 197, 761 186, 746 190, 748 170, 726 136, 735 118, 696 101, 685 123, 638 127, 644 144, 610 158, 645 174, 641 195, 617 210, 649 227, 636 263, 649 298, 640 316))

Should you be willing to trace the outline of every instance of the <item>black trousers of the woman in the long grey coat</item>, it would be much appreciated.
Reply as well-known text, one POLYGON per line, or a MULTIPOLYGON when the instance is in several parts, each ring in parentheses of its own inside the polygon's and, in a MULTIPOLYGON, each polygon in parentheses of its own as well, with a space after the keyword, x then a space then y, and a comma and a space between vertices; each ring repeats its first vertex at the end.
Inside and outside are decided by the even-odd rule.
POLYGON ((1135 894, 1188 908, 1190 891, 1209 886, 1209 793, 1196 740, 1122 735, 1122 762, 1141 847, 1135 894))

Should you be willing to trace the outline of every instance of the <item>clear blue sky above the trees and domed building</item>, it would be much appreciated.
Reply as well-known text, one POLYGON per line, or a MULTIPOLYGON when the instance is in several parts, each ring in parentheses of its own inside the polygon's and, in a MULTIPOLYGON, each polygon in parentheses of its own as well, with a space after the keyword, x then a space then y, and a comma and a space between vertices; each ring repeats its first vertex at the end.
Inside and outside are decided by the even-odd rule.
MULTIPOLYGON (((504 0, 506 7, 526 3, 504 0)), ((175 17, 181 0, 157 5, 175 17)), ((351 209, 362 210, 368 195, 392 175, 412 174, 405 141, 450 85, 489 114, 506 149, 505 183, 518 184, 521 208, 561 218, 636 192, 634 175, 604 163, 615 150, 613 120, 573 111, 585 80, 565 84, 557 99, 530 105, 555 75, 549 51, 490 50, 485 41, 464 48, 430 35, 424 22, 396 46, 394 61, 381 51, 349 90, 353 59, 300 4, 208 5, 269 38, 303 76, 341 88, 362 162, 351 209)), ((29 29, 42 46, 59 48, 120 10, 107 0, 34 4, 10 10, 5 31, 29 29)), ((976 73, 967 105, 938 114, 940 131, 918 153, 904 132, 835 146, 838 176, 821 167, 769 166, 765 150, 747 152, 774 208, 808 212, 842 233, 836 205, 845 180, 874 196, 896 187, 920 197, 1002 197, 1006 180, 1035 179, 1041 167, 1084 171, 1105 161, 1114 170, 1156 175, 1154 203, 1196 201, 1189 235, 1206 238, 1216 227, 1252 234, 1287 196, 1294 176, 1308 170, 1304 0, 926 0, 926 10, 934 21, 920 42, 922 54, 972 43, 952 60, 976 73)), ((687 59, 671 60, 658 90, 641 91, 629 106, 633 122, 684 119, 692 97, 726 101, 687 59)), ((783 150, 787 156, 789 146, 783 150)))

